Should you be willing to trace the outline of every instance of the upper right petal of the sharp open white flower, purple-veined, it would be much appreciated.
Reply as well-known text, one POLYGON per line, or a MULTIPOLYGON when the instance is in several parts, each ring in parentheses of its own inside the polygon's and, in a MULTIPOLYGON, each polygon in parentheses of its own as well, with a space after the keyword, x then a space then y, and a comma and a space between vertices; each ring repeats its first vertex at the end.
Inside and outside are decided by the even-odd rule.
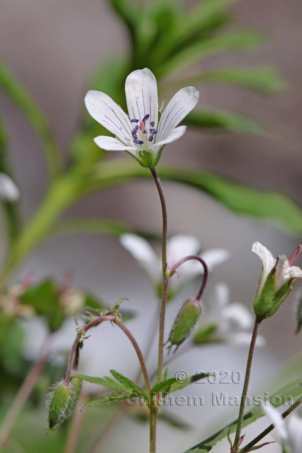
POLYGON ((194 87, 179 90, 168 103, 158 124, 158 142, 165 140, 170 132, 187 116, 196 106, 199 92, 194 87))

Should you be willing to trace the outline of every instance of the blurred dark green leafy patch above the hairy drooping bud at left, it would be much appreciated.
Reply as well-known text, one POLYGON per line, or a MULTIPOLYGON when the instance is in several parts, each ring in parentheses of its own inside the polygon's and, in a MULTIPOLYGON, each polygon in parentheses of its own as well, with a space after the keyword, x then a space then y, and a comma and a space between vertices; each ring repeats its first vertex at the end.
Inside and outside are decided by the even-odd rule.
POLYGON ((46 318, 52 332, 58 330, 65 319, 58 288, 52 280, 29 287, 21 296, 21 303, 32 305, 38 316, 46 318))

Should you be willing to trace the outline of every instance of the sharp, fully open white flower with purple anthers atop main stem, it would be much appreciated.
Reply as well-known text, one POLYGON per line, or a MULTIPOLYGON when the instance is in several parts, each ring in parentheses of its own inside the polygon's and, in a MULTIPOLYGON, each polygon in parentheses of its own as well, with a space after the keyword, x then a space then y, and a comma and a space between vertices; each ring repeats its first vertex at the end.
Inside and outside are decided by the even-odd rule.
POLYGON ((105 93, 89 91, 85 105, 89 114, 115 135, 100 135, 94 141, 107 151, 128 151, 144 166, 152 166, 167 143, 179 139, 186 126, 176 127, 196 106, 199 92, 194 87, 179 90, 158 122, 157 83, 148 69, 133 71, 126 78, 125 94, 129 116, 105 93), (147 153, 146 153, 147 152, 147 153), (151 162, 147 162, 150 153, 151 162))

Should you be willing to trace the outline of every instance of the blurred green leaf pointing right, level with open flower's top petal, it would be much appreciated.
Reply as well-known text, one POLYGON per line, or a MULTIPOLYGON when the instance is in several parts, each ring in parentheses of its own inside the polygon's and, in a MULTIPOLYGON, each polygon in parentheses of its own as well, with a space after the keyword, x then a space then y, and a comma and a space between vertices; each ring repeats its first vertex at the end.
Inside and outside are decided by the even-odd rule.
POLYGON ((226 67, 203 72, 177 82, 180 87, 204 83, 239 85, 265 94, 273 94, 285 87, 285 82, 273 67, 226 67))

